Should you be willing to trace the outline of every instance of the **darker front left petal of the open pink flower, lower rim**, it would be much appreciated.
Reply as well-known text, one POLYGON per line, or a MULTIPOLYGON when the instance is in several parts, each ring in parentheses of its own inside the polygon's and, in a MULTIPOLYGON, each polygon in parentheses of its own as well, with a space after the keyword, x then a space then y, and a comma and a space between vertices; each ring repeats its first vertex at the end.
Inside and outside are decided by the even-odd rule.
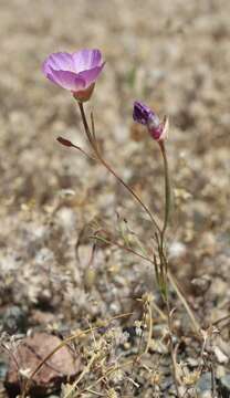
POLYGON ((81 76, 79 77, 77 74, 73 72, 55 71, 52 67, 50 67, 50 72, 48 73, 46 77, 51 82, 72 92, 76 92, 85 87, 84 80, 81 76))

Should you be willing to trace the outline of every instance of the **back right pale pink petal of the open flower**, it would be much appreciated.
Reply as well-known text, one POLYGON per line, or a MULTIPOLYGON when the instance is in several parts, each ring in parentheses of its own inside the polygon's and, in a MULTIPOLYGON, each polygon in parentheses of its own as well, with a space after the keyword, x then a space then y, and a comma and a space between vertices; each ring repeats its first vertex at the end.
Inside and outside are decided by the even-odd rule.
POLYGON ((72 54, 76 72, 93 69, 102 65, 102 54, 100 50, 81 50, 72 54))

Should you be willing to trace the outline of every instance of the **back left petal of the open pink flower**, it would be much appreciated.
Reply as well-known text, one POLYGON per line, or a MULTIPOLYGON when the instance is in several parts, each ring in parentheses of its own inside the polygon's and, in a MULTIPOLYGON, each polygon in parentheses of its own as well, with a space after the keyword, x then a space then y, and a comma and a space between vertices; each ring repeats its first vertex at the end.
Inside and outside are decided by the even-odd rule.
POLYGON ((74 63, 71 54, 66 52, 58 52, 49 55, 42 65, 42 71, 45 75, 54 71, 70 71, 74 72, 74 63))

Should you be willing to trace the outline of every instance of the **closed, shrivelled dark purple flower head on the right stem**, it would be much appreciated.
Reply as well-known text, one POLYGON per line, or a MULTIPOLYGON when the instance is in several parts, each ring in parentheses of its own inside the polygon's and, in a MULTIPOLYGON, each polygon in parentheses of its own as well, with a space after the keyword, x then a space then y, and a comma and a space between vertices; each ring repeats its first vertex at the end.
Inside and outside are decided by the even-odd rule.
POLYGON ((135 122, 147 127, 150 136, 156 140, 163 140, 166 136, 166 123, 161 123, 158 116, 139 101, 134 103, 133 118, 135 122))

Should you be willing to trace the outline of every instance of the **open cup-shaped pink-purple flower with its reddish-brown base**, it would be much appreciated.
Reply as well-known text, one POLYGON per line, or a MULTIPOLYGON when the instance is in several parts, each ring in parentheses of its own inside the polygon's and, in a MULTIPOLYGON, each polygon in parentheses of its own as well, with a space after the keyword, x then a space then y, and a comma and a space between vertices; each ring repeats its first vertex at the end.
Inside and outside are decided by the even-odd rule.
POLYGON ((84 49, 72 54, 50 54, 42 72, 52 83, 71 91, 77 101, 87 101, 104 64, 100 50, 84 49))

